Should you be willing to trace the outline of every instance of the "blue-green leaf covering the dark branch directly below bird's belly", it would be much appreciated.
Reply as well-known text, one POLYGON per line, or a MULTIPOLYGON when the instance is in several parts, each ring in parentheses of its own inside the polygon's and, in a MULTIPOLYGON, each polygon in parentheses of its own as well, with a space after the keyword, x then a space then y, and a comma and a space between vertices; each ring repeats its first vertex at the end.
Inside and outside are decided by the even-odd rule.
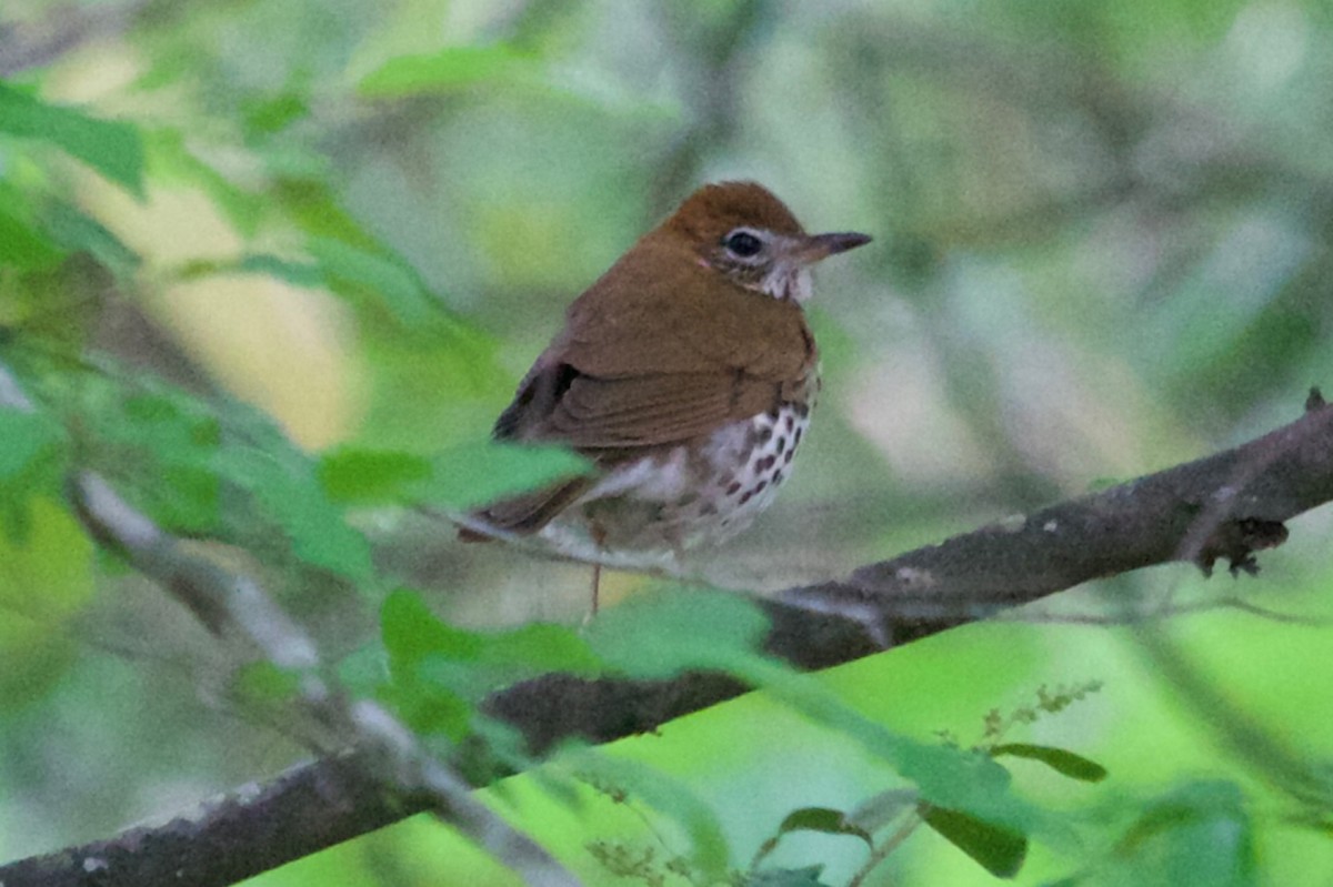
POLYGON ((768 625, 738 594, 663 586, 600 614, 585 637, 627 675, 665 678, 692 669, 744 673, 768 625))

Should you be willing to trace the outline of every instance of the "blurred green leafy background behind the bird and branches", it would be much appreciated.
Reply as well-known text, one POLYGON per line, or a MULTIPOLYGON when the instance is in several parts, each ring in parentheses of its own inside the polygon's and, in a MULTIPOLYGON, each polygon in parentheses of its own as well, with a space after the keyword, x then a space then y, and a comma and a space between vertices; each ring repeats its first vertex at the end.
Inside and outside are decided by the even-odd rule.
MULTIPOLYGON (((337 654, 397 583, 464 626, 577 625, 585 567, 460 546, 411 506, 571 469, 481 441, 569 298, 704 181, 756 178, 812 229, 876 236, 821 269, 818 421, 778 505, 697 562, 720 585, 837 575, 1296 416, 1333 377, 1330 37, 1313 0, 11 0, 0 358, 40 409, 0 420, 0 858, 301 755, 237 714, 207 634, 95 549, 64 471, 212 539, 337 654)), ((1328 525, 1297 521, 1257 582, 1122 577, 825 687, 970 744, 992 709, 1098 682, 1009 737, 1110 772, 1012 763, 1072 832, 1045 834, 1021 883, 1324 883, 1326 800, 1296 803, 1238 726, 1329 754, 1326 630, 1214 610, 1170 619, 1162 647, 1084 618, 1244 593, 1318 619, 1328 525), (1164 808, 1180 827, 1133 831, 1164 808)), ((645 586, 607 590, 633 606, 645 586)), ((517 779, 496 800, 589 879, 631 883, 677 878, 664 860, 709 844, 701 822, 742 868, 790 811, 897 784, 768 698, 613 759, 676 794, 585 788, 571 815, 517 779)), ((865 854, 796 831, 770 860, 845 883, 865 854)), ((443 876, 505 875, 413 820, 257 883, 443 876)), ((921 834, 870 883, 889 879, 990 876, 921 834)))

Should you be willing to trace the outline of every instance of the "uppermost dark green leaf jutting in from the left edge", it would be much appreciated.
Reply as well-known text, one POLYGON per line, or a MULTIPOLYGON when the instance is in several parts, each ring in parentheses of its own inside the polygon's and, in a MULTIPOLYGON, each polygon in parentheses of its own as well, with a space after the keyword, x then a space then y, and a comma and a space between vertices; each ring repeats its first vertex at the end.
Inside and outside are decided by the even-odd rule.
POLYGON ((127 123, 51 105, 0 83, 0 132, 48 141, 136 196, 144 193, 144 145, 127 123))

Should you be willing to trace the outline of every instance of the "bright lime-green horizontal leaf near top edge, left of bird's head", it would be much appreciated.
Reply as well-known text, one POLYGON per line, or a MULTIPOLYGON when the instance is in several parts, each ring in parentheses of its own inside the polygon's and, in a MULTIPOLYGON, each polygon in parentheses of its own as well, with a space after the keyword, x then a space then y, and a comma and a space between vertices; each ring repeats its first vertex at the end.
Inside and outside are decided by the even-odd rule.
POLYGON ((536 83, 539 75, 540 67, 531 56, 505 44, 448 47, 431 55, 391 59, 367 75, 357 92, 372 99, 403 99, 483 83, 536 83))

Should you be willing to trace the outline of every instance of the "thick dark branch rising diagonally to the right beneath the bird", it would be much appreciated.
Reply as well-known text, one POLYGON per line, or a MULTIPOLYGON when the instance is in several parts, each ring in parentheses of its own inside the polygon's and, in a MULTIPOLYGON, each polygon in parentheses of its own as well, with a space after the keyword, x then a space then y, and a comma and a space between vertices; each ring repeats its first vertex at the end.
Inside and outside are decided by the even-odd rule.
MULTIPOLYGON (((1316 393, 1301 418, 1236 449, 761 601, 772 618, 765 646, 797 667, 821 669, 1145 566, 1186 561, 1206 571, 1226 558, 1233 571, 1253 571, 1254 551, 1286 538, 1285 521, 1330 499, 1333 408, 1316 393)), ((607 742, 652 730, 745 689, 701 673, 656 682, 549 674, 493 694, 485 707, 541 751, 569 737, 607 742)), ((227 863, 228 880, 207 883, 257 874, 424 807, 412 795, 387 796, 373 771, 349 766, 348 755, 323 758, 269 782, 253 799, 195 818, 191 835, 204 838, 228 834, 237 816, 284 826, 268 839, 251 834, 244 847, 199 840, 224 854, 219 868, 227 863), (245 871, 236 868, 239 856, 249 863, 245 871)), ((143 831, 127 832, 96 847, 144 840, 143 831)), ((81 850, 64 854, 88 858, 81 850)), ((45 883, 23 879, 37 871, 35 862, 0 867, 0 882, 45 883)))

